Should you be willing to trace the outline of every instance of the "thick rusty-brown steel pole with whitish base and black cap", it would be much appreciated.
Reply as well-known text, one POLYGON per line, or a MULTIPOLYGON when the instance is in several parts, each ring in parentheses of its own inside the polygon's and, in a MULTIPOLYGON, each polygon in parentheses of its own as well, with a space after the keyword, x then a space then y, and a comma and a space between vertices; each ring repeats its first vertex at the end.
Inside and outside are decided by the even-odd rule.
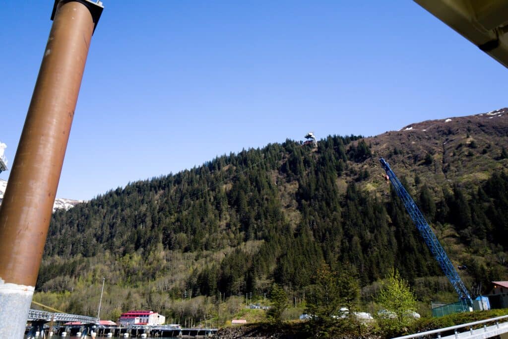
POLYGON ((63 157, 102 3, 56 0, 7 189, 0 207, 0 338, 22 338, 63 157))

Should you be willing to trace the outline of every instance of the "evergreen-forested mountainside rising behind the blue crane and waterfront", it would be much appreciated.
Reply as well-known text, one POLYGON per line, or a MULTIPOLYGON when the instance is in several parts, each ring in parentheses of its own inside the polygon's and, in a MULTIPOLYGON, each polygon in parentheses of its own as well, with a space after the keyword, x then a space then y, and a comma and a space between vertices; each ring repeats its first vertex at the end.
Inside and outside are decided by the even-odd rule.
POLYGON ((363 304, 392 268, 421 300, 453 291, 386 182, 384 157, 480 293, 508 273, 506 114, 328 136, 317 148, 286 140, 129 183, 53 214, 36 289, 93 314, 85 300, 104 276, 111 318, 173 314, 184 295, 262 296, 273 282, 305 298, 324 260, 358 279, 363 304))

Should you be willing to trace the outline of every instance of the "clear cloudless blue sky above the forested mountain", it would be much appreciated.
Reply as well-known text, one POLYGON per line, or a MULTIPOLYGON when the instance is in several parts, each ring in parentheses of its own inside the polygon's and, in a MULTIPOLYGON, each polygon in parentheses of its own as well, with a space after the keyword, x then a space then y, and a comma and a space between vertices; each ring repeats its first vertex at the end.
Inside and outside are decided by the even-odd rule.
MULTIPOLYGON (((52 7, 0 0, 0 141, 11 164, 52 7)), ((508 71, 409 0, 104 7, 61 198, 90 199, 308 131, 368 136, 508 106, 508 71)))

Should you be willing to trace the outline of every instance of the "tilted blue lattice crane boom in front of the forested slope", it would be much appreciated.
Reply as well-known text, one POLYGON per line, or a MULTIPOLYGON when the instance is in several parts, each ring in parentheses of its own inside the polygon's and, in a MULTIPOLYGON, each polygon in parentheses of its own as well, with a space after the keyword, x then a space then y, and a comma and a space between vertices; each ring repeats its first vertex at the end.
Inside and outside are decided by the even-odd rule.
POLYGON ((379 162, 385 169, 388 179, 390 179, 390 181, 392 182, 395 192, 397 192, 397 195, 404 203, 407 212, 409 213, 412 221, 415 223, 416 227, 420 231, 420 234, 422 235, 423 239, 425 240, 425 243, 429 247, 430 252, 432 252, 432 255, 437 260, 437 263, 443 270, 444 274, 447 276, 448 280, 450 280, 450 283, 452 283, 455 291, 457 291, 459 298, 461 300, 468 301, 469 304, 472 304, 469 291, 464 286, 462 279, 460 279, 459 273, 457 273, 457 270, 450 261, 450 258, 448 257, 446 252, 444 252, 443 247, 439 243, 439 240, 437 240, 437 237, 434 234, 434 232, 432 232, 432 229, 430 228, 429 224, 423 217, 423 214, 416 205, 415 201, 412 200, 411 196, 409 195, 409 193, 407 193, 406 189, 404 188, 402 183, 400 183, 399 179, 390 168, 390 165, 388 165, 388 163, 385 161, 385 159, 379 158, 379 162))

